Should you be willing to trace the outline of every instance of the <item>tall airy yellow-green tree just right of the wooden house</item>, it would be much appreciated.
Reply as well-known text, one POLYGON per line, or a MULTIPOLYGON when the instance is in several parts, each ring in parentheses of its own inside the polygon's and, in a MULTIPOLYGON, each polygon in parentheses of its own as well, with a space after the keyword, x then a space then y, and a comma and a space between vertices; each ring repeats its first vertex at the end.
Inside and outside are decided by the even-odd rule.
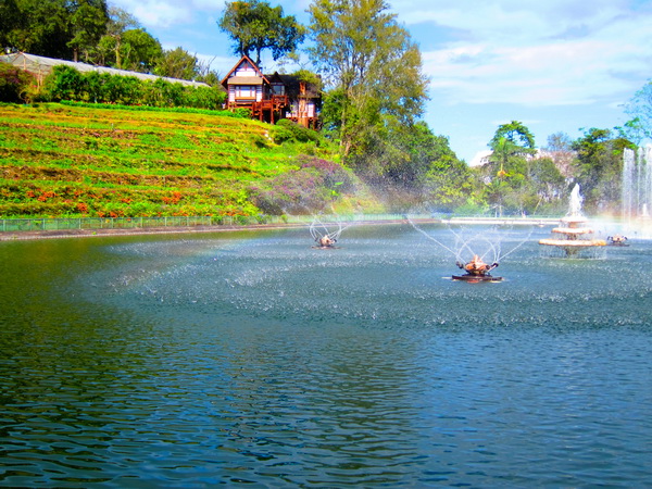
POLYGON ((384 0, 315 0, 309 54, 329 87, 324 123, 361 167, 369 153, 394 153, 391 136, 423 114, 421 52, 384 0))

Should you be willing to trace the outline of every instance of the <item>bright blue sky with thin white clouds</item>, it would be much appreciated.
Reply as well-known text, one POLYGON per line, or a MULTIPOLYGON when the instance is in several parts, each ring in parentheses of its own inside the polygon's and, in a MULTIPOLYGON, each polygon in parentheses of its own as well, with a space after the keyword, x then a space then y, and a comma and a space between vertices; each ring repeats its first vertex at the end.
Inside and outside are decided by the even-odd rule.
MULTIPOLYGON (((310 0, 267 0, 306 25, 310 0)), ((224 0, 110 0, 164 49, 184 48, 225 76, 238 61, 217 27, 224 0)), ((388 0, 419 47, 429 79, 424 120, 469 164, 501 124, 523 123, 537 147, 629 117, 652 79, 652 0, 388 0)), ((263 70, 279 66, 267 58, 263 70)), ((310 66, 305 66, 310 67, 310 66)), ((292 71, 286 66, 286 71, 292 71)), ((280 70, 279 70, 280 71, 280 70)))

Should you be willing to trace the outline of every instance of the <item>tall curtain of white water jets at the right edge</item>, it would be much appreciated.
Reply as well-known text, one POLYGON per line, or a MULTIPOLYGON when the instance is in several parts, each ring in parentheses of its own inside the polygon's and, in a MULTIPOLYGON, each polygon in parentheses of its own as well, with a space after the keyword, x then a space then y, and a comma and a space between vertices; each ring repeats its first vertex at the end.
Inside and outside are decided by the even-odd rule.
POLYGON ((626 227, 637 234, 652 235, 652 146, 623 152, 622 215, 626 227))

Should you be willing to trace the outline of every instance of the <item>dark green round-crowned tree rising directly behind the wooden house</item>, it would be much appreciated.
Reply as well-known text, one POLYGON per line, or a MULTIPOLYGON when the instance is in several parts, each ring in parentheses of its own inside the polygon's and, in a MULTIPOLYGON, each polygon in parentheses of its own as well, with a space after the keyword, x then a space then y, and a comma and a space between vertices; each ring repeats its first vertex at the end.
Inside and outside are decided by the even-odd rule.
POLYGON ((249 58, 255 53, 259 67, 264 49, 272 50, 276 61, 293 52, 305 37, 305 28, 293 15, 284 16, 283 7, 272 8, 261 0, 228 3, 217 25, 230 36, 234 53, 249 58))

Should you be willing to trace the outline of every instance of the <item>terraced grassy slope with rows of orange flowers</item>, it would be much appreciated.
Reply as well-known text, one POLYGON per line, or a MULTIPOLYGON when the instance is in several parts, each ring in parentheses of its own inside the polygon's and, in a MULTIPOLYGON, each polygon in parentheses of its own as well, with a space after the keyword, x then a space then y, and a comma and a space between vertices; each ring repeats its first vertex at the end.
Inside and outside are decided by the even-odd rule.
POLYGON ((299 149, 214 114, 0 105, 0 216, 255 213, 252 183, 299 149))

